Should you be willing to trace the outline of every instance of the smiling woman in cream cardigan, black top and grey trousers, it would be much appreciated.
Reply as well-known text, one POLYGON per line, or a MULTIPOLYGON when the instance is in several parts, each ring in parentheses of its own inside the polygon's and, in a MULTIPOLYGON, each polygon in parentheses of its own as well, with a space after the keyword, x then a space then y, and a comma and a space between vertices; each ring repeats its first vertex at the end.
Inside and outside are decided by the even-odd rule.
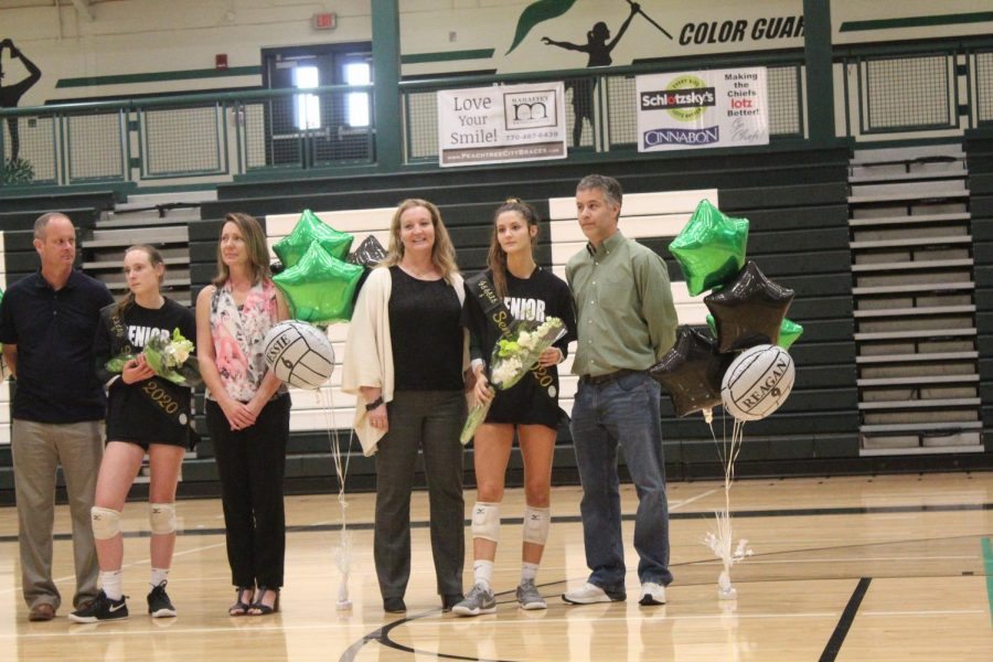
POLYGON ((376 459, 374 557, 383 609, 406 611, 410 491, 424 453, 438 594, 462 599, 462 447, 468 335, 455 249, 438 207, 405 200, 386 259, 370 274, 349 327, 342 388, 356 395, 355 433, 376 459))

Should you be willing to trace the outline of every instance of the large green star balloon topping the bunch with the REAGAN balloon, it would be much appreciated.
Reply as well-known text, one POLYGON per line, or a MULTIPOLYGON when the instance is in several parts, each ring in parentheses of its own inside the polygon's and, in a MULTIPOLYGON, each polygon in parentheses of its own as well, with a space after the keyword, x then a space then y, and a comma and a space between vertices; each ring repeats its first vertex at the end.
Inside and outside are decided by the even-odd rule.
POLYGON ((669 245, 695 297, 723 285, 745 266, 748 218, 732 218, 701 200, 682 232, 669 245))

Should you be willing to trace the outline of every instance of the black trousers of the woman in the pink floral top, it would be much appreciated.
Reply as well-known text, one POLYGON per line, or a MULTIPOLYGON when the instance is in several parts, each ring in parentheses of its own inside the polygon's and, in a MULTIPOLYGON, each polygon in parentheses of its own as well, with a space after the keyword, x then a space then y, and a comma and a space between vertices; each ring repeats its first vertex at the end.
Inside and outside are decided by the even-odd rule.
POLYGON ((221 477, 227 563, 235 586, 282 586, 286 513, 282 476, 290 397, 270 401, 255 425, 232 430, 221 406, 206 401, 206 424, 221 477))

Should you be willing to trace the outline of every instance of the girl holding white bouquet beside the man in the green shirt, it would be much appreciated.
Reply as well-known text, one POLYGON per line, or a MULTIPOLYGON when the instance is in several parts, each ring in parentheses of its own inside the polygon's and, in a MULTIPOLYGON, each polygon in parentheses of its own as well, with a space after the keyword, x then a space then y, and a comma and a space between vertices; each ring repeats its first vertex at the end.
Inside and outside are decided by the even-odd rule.
MULTIPOLYGON (((452 611, 460 616, 478 616, 495 610, 490 587, 496 540, 500 531, 500 502, 503 500, 504 473, 510 459, 514 433, 517 434, 524 460, 524 544, 521 581, 516 597, 523 609, 544 609, 545 600, 535 588, 535 576, 548 536, 552 458, 558 428, 558 373, 556 365, 566 355, 575 338, 576 321, 569 288, 549 270, 534 261, 538 217, 530 205, 510 200, 496 210, 493 238, 484 277, 508 311, 519 320, 543 322, 557 317, 565 322, 567 334, 546 350, 541 367, 527 374, 508 391, 495 395, 485 421, 479 426, 474 441, 477 503, 472 509, 472 547, 474 586, 452 611)), ((471 287, 469 288, 472 289, 471 287)), ((477 401, 489 402, 488 363, 500 331, 482 311, 472 291, 467 292, 463 322, 473 335, 473 361, 477 401)))

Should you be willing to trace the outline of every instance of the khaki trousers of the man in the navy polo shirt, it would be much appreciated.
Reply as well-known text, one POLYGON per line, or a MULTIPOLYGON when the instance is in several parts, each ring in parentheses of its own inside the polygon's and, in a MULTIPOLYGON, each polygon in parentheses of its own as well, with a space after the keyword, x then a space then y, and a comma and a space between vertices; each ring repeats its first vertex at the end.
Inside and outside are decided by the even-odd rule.
POLYGON ((62 604, 52 579, 55 477, 62 465, 73 521, 76 568, 73 606, 78 607, 79 602, 97 596, 99 566, 89 509, 104 456, 104 421, 49 424, 14 419, 11 451, 24 601, 32 609, 49 604, 57 610, 62 604))

